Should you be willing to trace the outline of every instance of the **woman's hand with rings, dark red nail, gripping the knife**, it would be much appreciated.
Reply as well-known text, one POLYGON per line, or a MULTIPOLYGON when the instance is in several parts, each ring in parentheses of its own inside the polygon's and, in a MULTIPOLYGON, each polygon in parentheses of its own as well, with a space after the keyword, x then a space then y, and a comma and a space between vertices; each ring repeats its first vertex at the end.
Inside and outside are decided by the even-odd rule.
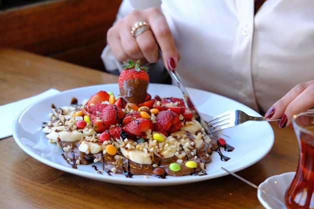
POLYGON ((176 68, 180 54, 175 47, 166 18, 158 8, 132 11, 107 32, 107 43, 120 62, 138 59, 141 63, 157 62, 159 51, 156 42, 163 52, 164 63, 168 64, 166 67, 176 68), (150 30, 144 31, 135 38, 131 35, 131 30, 137 21, 147 22, 150 30))

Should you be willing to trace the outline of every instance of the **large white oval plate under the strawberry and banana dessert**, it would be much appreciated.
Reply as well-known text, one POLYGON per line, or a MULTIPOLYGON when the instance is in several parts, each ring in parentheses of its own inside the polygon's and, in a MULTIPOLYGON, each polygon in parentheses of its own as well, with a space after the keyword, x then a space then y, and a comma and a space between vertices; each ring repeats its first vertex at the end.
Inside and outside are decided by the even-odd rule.
MULTIPOLYGON (((13 137, 17 144, 35 159, 65 172, 111 183, 161 186, 191 183, 224 176, 227 173, 219 168, 220 165, 233 172, 239 171, 263 158, 274 142, 274 133, 267 122, 250 121, 238 127, 226 129, 222 133, 230 136, 230 138, 225 137, 225 139, 228 144, 235 147, 235 150, 226 152, 222 149, 222 152, 231 159, 227 162, 221 161, 219 154, 214 152, 212 162, 206 166, 208 175, 202 176, 167 176, 166 179, 161 179, 154 176, 133 175, 132 178, 126 178, 122 174, 113 174, 113 176, 108 176, 106 173, 97 174, 91 165, 80 165, 78 169, 74 169, 61 156, 63 151, 56 144, 48 143, 41 130, 42 122, 50 119, 48 114, 52 112, 52 104, 56 107, 70 105, 73 97, 81 103, 83 99, 90 98, 100 90, 112 91, 115 95, 119 95, 117 84, 88 86, 61 92, 27 108, 17 117, 13 125, 13 137)), ((230 109, 240 109, 252 116, 260 116, 247 106, 226 97, 197 89, 188 88, 187 90, 205 120, 230 109)), ((155 95, 183 97, 178 87, 164 84, 149 84, 148 93, 152 97, 155 95)), ((101 165, 97 167, 100 168, 101 165)))

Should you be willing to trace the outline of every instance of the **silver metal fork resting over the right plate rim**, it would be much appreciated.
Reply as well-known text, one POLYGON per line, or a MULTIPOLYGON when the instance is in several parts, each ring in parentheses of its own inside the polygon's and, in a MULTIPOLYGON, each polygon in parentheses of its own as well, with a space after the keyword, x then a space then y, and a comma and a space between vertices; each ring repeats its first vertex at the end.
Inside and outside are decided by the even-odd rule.
POLYGON ((246 121, 277 121, 275 120, 267 120, 265 117, 254 117, 249 116, 245 112, 241 110, 229 110, 224 112, 217 117, 213 118, 211 121, 207 123, 207 126, 211 133, 216 131, 220 131, 222 129, 231 128, 237 125, 240 125, 246 121))

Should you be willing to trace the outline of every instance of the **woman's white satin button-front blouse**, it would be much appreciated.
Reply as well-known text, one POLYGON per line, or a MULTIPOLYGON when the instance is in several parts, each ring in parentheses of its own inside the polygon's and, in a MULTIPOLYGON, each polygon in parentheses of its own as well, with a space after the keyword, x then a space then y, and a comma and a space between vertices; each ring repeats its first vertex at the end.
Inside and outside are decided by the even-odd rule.
MULTIPOLYGON (((117 19, 156 0, 124 0, 117 19)), ((161 9, 181 54, 186 86, 266 111, 298 83, 314 80, 314 1, 166 0, 161 9)), ((106 47, 107 70, 120 66, 106 47)))

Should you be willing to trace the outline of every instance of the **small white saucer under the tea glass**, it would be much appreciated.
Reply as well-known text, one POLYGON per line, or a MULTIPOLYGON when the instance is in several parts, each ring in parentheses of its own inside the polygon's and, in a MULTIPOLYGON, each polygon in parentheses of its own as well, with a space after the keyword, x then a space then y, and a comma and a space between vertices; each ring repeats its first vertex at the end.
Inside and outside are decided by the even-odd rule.
MULTIPOLYGON (((288 172, 288 173, 283 173, 280 175, 271 176, 267 178, 264 182, 259 184, 259 187, 263 189, 264 191, 270 193, 274 197, 276 197, 282 203, 284 203, 285 192, 288 186, 291 184, 294 175, 295 175, 295 172, 288 172)), ((264 194, 259 189, 257 190, 257 197, 260 203, 266 209, 282 208, 278 202, 276 202, 274 199, 272 199, 268 195, 264 194)))

